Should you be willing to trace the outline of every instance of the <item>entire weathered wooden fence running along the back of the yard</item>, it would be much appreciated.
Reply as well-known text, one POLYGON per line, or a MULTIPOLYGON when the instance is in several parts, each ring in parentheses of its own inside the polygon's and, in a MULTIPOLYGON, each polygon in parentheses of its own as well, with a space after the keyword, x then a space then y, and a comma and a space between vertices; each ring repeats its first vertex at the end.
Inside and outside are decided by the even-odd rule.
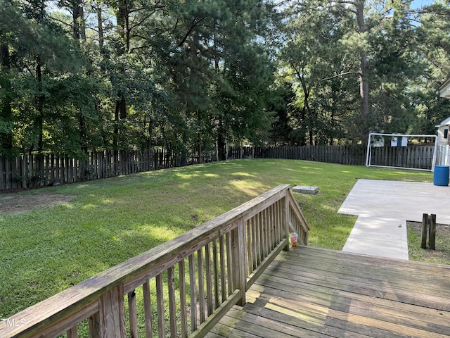
MULTIPOLYGON (((433 146, 372 147, 371 164, 430 169, 433 146)), ((449 153, 446 153, 447 155, 449 153)), ((449 157, 449 156, 446 156, 449 157)), ((280 158, 327 163, 364 165, 364 146, 253 146, 230 147, 229 159, 280 158)), ((444 158, 444 156, 442 156, 444 158)), ((450 158, 450 157, 449 157, 450 158)), ((217 161, 217 150, 191 151, 181 156, 167 149, 148 151, 101 151, 89 153, 85 161, 48 155, 23 155, 12 160, 0 157, 0 190, 44 187, 49 184, 98 180, 217 161)))

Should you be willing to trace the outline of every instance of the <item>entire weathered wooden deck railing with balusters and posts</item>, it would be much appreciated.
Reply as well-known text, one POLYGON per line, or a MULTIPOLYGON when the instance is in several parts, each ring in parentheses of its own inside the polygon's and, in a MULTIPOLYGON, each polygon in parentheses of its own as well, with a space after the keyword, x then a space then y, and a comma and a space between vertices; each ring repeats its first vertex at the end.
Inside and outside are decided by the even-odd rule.
POLYGON ((0 323, 0 337, 203 337, 309 227, 287 184, 0 323))

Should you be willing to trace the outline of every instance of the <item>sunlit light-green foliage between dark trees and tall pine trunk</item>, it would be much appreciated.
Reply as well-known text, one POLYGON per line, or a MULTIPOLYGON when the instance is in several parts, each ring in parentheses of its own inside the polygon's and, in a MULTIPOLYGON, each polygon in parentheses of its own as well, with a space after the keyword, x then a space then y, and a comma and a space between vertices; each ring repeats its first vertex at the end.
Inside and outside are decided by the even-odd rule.
MULTIPOLYGON (((283 75, 293 75, 296 98, 291 125, 293 144, 333 144, 351 139, 346 134, 355 109, 354 77, 357 45, 352 15, 340 4, 303 1, 290 8, 290 20, 281 27, 285 42, 279 60, 283 75)), ((357 88, 356 88, 357 89, 357 88)))

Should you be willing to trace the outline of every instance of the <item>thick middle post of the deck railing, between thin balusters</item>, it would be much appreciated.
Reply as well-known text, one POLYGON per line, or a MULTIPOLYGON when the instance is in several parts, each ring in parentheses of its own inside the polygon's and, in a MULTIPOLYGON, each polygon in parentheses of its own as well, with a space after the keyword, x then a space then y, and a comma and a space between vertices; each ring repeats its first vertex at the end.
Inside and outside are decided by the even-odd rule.
POLYGON ((245 292, 247 291, 247 254, 245 246, 244 218, 238 220, 238 226, 231 230, 232 264, 233 264, 233 289, 240 289, 239 306, 245 304, 245 292))

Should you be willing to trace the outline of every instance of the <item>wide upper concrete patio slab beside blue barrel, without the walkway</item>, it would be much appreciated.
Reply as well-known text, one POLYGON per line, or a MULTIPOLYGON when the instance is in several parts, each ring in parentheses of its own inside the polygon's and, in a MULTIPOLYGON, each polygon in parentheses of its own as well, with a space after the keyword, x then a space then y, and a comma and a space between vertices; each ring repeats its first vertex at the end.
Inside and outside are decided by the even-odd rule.
POLYGON ((422 222, 435 213, 437 223, 450 224, 450 187, 424 182, 358 180, 338 213, 422 222))

